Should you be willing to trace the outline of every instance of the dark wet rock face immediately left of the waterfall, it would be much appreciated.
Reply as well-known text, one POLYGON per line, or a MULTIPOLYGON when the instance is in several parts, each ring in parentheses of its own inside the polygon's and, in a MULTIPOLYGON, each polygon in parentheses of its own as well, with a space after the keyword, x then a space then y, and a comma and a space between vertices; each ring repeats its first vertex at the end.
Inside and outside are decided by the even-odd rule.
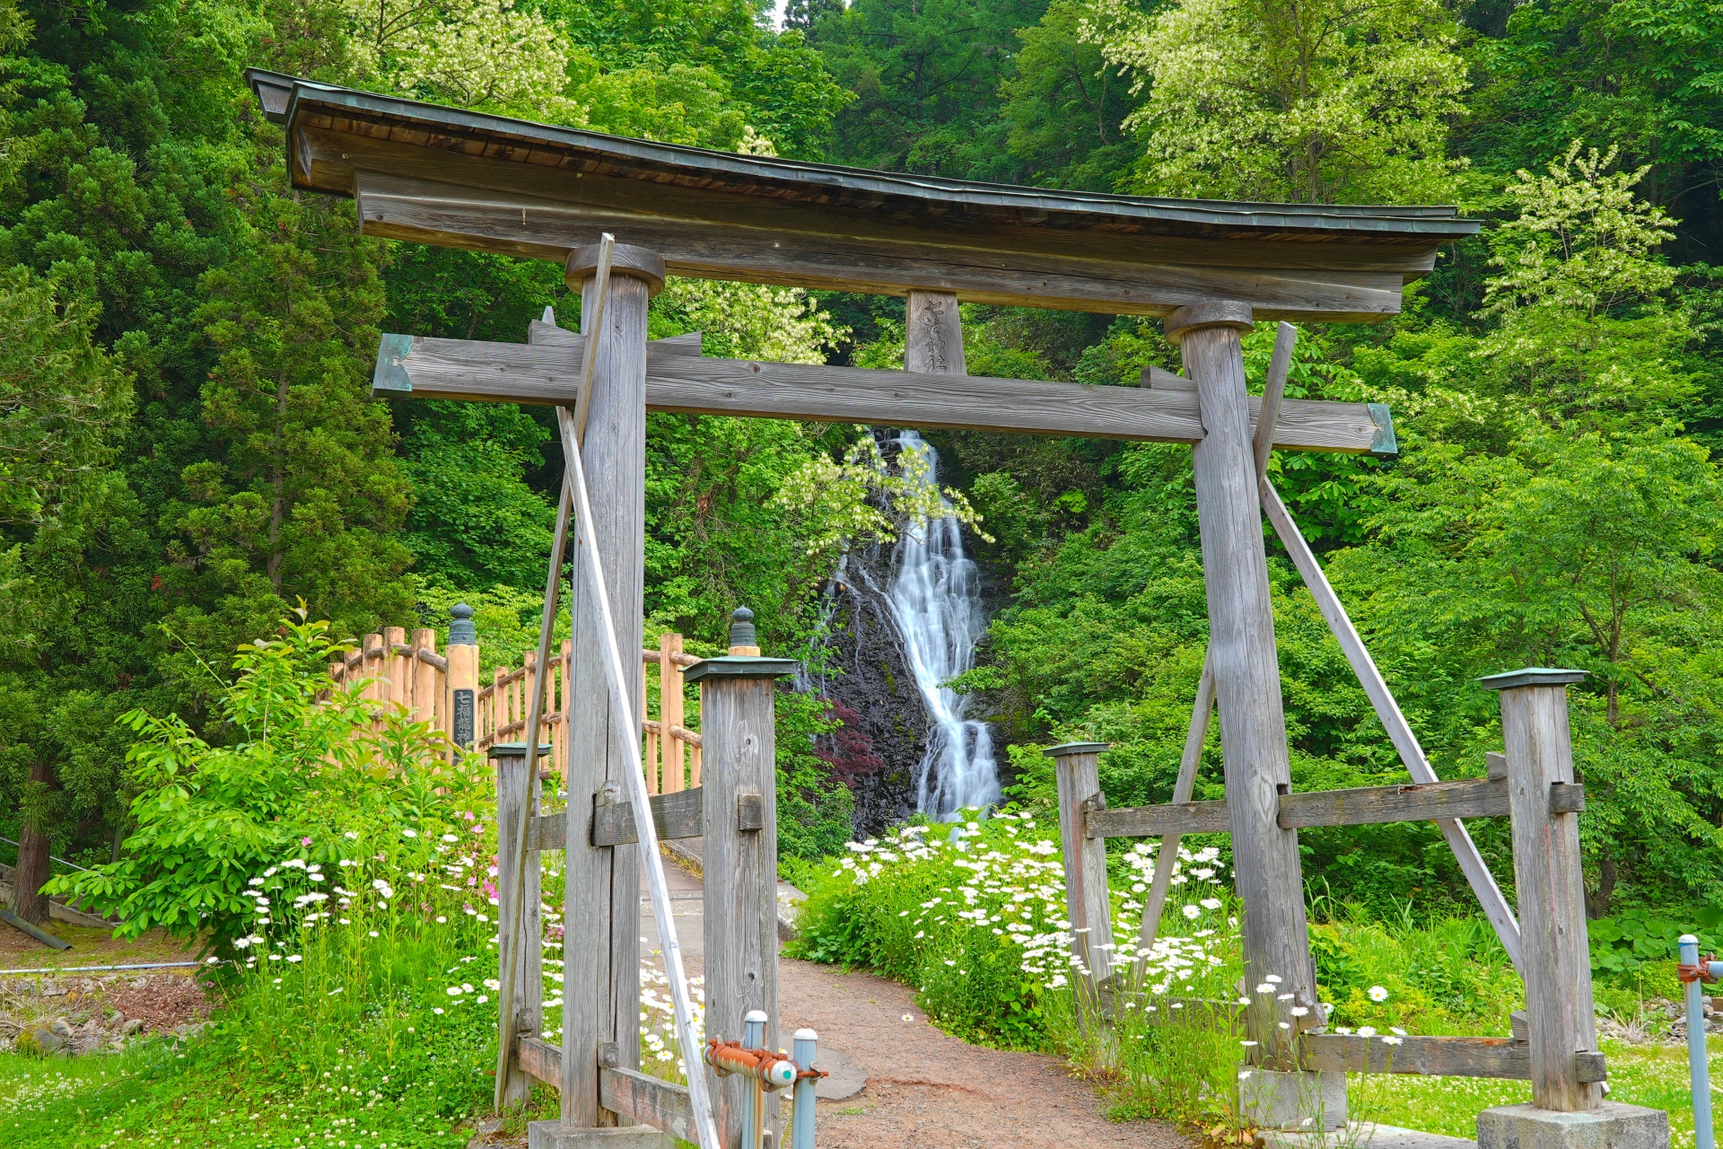
POLYGON ((844 725, 817 751, 855 792, 856 837, 915 813, 915 767, 927 741, 927 711, 884 599, 889 563, 880 548, 849 555, 829 587, 832 674, 822 693, 844 725))

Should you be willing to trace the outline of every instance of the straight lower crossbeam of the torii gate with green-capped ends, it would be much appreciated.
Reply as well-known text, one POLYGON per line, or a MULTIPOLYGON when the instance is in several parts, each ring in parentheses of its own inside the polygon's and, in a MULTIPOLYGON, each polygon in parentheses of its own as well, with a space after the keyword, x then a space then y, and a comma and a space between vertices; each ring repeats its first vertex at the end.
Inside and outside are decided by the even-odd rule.
MULTIPOLYGON (((388 334, 372 393, 443 400, 569 405, 577 398, 582 343, 555 346, 388 334)), ((765 363, 648 353, 646 407, 696 415, 875 422, 1144 443, 1196 443, 1203 419, 1191 391, 1089 386, 1029 379, 765 363)), ((1261 398, 1246 400, 1254 424, 1261 398)), ((1370 453, 1394 450, 1380 403, 1285 400, 1275 448, 1370 453)))

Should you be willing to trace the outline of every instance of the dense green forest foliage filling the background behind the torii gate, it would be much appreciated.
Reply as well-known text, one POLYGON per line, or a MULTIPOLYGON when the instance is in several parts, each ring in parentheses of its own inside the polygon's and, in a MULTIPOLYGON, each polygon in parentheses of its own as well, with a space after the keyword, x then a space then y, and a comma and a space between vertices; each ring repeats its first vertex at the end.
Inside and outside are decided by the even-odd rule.
MULTIPOLYGON (((781 29, 758 0, 0 0, 0 834, 29 865, 117 851, 115 717, 222 737, 217 675, 296 601, 339 634, 538 610, 544 413, 374 403, 369 376, 381 331, 524 339, 569 305, 560 269, 360 238, 348 202, 288 189, 246 65, 967 179, 1459 203, 1482 236, 1401 317, 1299 345, 1289 393, 1392 405, 1399 458, 1280 455, 1275 482, 1444 777, 1499 744, 1477 675, 1590 672, 1594 915, 1723 889, 1723 12, 1651 0, 791 0, 781 29)), ((965 329, 973 374, 1179 365, 1156 320, 965 329)), ((686 331, 891 365, 903 300, 672 281, 653 334, 686 331)), ((1189 451, 929 438, 987 536, 963 686, 1013 792, 1044 799, 1039 746, 1084 736, 1115 746, 1115 804, 1163 801, 1206 630, 1189 451)), ((774 653, 808 649, 837 555, 915 510, 870 443, 653 415, 648 632, 717 641, 746 601, 774 653)), ((1296 786, 1403 777, 1275 543, 1270 567, 1296 786)), ((846 806, 787 746, 815 849, 846 806)), ((1208 796, 1218 765, 1211 742, 1208 796)), ((1504 827, 1475 832, 1508 879, 1504 827)), ((1313 896, 1466 904, 1430 827, 1303 841, 1313 896)))

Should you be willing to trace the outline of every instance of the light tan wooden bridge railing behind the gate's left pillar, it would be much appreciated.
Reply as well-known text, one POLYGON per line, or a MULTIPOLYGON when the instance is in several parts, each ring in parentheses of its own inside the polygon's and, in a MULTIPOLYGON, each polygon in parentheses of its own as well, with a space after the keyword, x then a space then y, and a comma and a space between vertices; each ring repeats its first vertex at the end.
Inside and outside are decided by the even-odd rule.
MULTIPOLYGON (((467 613, 470 617, 470 612, 467 613)), ((563 639, 562 649, 551 656, 544 682, 544 732, 541 739, 551 744, 551 761, 560 775, 569 768, 569 667, 572 643, 563 639)), ((436 651, 436 630, 424 627, 412 632, 405 627, 384 627, 367 634, 360 649, 345 661, 329 663, 329 677, 336 682, 360 682, 360 696, 407 706, 414 722, 429 722, 455 741, 457 734, 470 730, 476 749, 498 742, 526 739, 527 691, 532 687, 532 667, 538 651, 526 653, 522 667, 496 667, 491 682, 477 684, 477 644, 451 643, 446 656, 436 651), (458 691, 472 691, 467 729, 458 717, 462 699, 458 691)), ((700 658, 682 651, 681 634, 658 636, 658 649, 643 649, 643 670, 658 668, 658 717, 650 717, 648 677, 641 675, 641 715, 646 734, 644 768, 646 789, 653 794, 675 794, 700 786, 701 741, 687 729, 687 687, 682 672, 700 658)))

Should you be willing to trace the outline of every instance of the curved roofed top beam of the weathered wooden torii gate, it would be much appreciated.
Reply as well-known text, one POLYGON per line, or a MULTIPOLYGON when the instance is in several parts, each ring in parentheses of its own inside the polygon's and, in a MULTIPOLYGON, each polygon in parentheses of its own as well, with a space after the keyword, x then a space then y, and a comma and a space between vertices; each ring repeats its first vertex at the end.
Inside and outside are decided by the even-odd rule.
POLYGON ((1447 243, 1452 207, 1168 200, 710 152, 250 69, 293 186, 358 200, 367 234, 562 260, 600 231, 672 274, 1163 315, 1375 320, 1447 243))

